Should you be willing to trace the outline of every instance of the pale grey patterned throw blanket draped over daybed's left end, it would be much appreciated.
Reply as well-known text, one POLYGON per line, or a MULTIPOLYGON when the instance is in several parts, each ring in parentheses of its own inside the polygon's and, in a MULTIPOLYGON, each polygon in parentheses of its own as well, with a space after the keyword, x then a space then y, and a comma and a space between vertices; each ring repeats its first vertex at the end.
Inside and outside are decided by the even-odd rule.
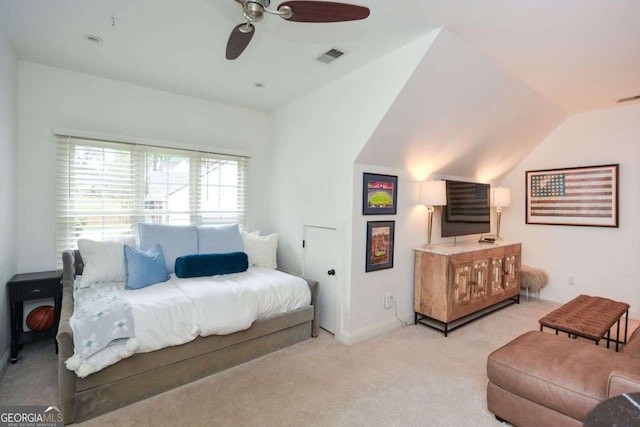
POLYGON ((66 366, 80 378, 131 356, 138 343, 134 338, 131 306, 114 285, 74 285, 71 317, 74 355, 66 366))

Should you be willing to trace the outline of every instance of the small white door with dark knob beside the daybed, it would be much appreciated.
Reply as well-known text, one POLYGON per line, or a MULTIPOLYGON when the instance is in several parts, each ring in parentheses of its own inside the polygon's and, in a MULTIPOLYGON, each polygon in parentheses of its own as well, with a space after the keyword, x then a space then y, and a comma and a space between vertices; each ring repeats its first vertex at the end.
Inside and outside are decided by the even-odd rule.
POLYGON ((320 284, 320 327, 336 330, 336 229, 304 226, 304 276, 320 284))

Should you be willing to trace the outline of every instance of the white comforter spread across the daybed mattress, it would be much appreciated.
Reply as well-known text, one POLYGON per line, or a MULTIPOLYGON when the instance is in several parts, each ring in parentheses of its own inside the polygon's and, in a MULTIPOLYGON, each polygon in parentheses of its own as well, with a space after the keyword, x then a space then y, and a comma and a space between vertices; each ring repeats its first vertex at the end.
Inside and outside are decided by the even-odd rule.
POLYGON ((128 291, 116 285, 132 307, 135 339, 109 346, 86 360, 77 354, 67 367, 83 378, 133 353, 187 343, 198 335, 227 335, 248 329, 256 319, 311 303, 307 282, 277 270, 251 267, 242 273, 180 279, 128 291))

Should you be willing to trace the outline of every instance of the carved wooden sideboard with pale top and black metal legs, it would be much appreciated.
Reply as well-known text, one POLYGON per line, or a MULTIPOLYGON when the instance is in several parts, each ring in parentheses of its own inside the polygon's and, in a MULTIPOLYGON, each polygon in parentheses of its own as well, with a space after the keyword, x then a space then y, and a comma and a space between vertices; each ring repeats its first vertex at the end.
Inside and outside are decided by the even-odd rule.
POLYGON ((447 334, 520 302, 521 244, 438 245, 415 251, 415 323, 447 334))

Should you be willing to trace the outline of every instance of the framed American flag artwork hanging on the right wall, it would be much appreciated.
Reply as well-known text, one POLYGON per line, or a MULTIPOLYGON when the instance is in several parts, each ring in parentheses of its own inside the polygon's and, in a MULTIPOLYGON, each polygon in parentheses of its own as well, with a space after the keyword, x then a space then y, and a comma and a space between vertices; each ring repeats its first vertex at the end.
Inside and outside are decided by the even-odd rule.
POLYGON ((618 227, 618 166, 526 172, 526 223, 618 227))

